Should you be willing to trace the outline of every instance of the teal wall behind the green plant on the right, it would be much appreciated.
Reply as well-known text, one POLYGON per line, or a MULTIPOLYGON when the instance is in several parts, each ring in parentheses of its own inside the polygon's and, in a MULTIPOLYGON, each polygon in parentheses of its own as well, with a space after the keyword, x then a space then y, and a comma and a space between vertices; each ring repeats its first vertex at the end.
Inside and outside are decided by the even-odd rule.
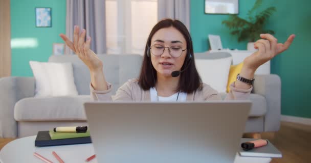
MULTIPOLYGON (((255 0, 239 0, 239 15, 245 18, 255 0)), ((246 49, 246 42, 237 42, 221 21, 228 15, 204 14, 204 0, 191 1, 190 32, 194 51, 209 49, 208 34, 220 35, 224 48, 246 49)), ((311 1, 265 0, 262 8, 275 6, 277 12, 269 19, 268 29, 276 32, 275 37, 286 41, 290 34, 296 34, 292 46, 271 61, 271 73, 278 74, 282 82, 281 114, 311 118, 311 1)))

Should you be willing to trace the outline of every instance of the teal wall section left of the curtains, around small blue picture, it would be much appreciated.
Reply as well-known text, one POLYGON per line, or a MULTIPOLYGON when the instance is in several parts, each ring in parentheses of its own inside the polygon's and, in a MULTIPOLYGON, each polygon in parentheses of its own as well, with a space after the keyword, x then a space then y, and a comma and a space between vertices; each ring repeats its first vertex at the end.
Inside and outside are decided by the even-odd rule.
POLYGON ((32 38, 36 47, 12 47, 12 76, 33 76, 29 61, 48 61, 65 33, 65 0, 11 0, 11 39, 32 38), (52 8, 52 28, 36 28, 35 7, 52 8))

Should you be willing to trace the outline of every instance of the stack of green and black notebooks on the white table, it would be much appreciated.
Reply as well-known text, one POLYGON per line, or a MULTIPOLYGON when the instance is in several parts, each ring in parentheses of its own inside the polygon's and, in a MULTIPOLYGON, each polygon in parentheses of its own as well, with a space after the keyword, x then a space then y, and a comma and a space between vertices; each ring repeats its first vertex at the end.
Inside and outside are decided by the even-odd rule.
POLYGON ((36 147, 83 143, 92 143, 89 130, 82 133, 39 131, 35 140, 36 147))

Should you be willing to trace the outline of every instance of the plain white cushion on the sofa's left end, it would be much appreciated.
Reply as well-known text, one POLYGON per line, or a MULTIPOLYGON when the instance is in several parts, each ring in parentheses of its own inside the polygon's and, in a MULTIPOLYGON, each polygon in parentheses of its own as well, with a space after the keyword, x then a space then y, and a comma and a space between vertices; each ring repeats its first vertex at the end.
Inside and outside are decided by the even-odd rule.
POLYGON ((30 61, 36 89, 35 97, 78 95, 71 63, 30 61))

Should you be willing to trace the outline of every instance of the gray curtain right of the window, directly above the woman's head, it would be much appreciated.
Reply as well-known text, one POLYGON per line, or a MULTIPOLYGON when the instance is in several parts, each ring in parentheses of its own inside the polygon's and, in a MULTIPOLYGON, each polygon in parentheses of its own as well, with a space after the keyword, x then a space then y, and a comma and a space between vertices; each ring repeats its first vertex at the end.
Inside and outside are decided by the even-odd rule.
POLYGON ((178 19, 190 31, 190 0, 158 0, 158 20, 164 18, 178 19))

